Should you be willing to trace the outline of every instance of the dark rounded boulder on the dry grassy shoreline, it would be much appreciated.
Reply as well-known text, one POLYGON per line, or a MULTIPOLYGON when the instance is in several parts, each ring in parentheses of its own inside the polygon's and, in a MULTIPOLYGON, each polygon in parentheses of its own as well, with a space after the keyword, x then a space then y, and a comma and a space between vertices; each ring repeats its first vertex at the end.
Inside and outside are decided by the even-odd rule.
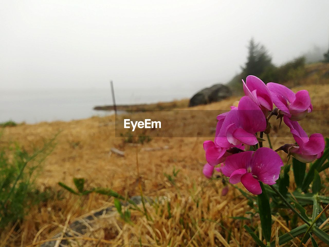
POLYGON ((220 101, 229 96, 232 96, 232 91, 229 87, 223 84, 215 84, 210 88, 205 88, 197 92, 190 99, 189 107, 220 101))

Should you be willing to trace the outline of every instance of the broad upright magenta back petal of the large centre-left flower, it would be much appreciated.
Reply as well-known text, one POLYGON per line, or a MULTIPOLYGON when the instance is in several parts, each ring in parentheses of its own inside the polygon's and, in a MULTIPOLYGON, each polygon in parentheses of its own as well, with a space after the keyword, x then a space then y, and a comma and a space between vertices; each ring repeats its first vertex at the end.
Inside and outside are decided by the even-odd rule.
POLYGON ((266 129, 266 119, 259 106, 248 96, 243 96, 238 105, 238 127, 255 134, 266 129), (257 119, 257 121, 255 121, 257 119))

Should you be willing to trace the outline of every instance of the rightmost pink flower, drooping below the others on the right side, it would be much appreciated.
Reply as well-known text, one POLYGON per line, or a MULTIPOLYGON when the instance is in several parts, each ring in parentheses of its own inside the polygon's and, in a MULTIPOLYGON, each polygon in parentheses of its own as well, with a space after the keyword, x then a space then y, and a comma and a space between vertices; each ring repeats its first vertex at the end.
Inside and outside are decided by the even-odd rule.
POLYGON ((324 150, 323 135, 315 133, 307 136, 304 129, 296 121, 291 121, 287 116, 283 121, 290 128, 290 132, 297 145, 291 145, 289 153, 301 162, 309 163, 322 156, 324 150))

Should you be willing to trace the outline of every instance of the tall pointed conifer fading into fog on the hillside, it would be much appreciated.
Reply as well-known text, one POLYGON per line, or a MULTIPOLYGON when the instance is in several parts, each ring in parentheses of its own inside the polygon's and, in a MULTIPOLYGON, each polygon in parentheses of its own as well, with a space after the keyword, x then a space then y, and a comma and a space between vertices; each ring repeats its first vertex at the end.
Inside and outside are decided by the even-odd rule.
POLYGON ((265 46, 256 43, 252 38, 249 41, 247 62, 245 67, 242 67, 242 73, 261 76, 268 68, 272 67, 274 67, 272 58, 268 55, 265 46))

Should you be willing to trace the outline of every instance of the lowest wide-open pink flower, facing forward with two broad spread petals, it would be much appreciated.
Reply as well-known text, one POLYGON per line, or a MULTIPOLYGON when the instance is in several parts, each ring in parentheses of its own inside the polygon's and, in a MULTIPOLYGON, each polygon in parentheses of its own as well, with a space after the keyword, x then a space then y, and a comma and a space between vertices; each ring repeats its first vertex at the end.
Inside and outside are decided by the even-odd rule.
POLYGON ((280 156, 269 148, 245 151, 226 158, 222 173, 230 177, 230 183, 241 182, 251 193, 262 193, 259 181, 272 185, 279 178, 283 162, 280 156))

